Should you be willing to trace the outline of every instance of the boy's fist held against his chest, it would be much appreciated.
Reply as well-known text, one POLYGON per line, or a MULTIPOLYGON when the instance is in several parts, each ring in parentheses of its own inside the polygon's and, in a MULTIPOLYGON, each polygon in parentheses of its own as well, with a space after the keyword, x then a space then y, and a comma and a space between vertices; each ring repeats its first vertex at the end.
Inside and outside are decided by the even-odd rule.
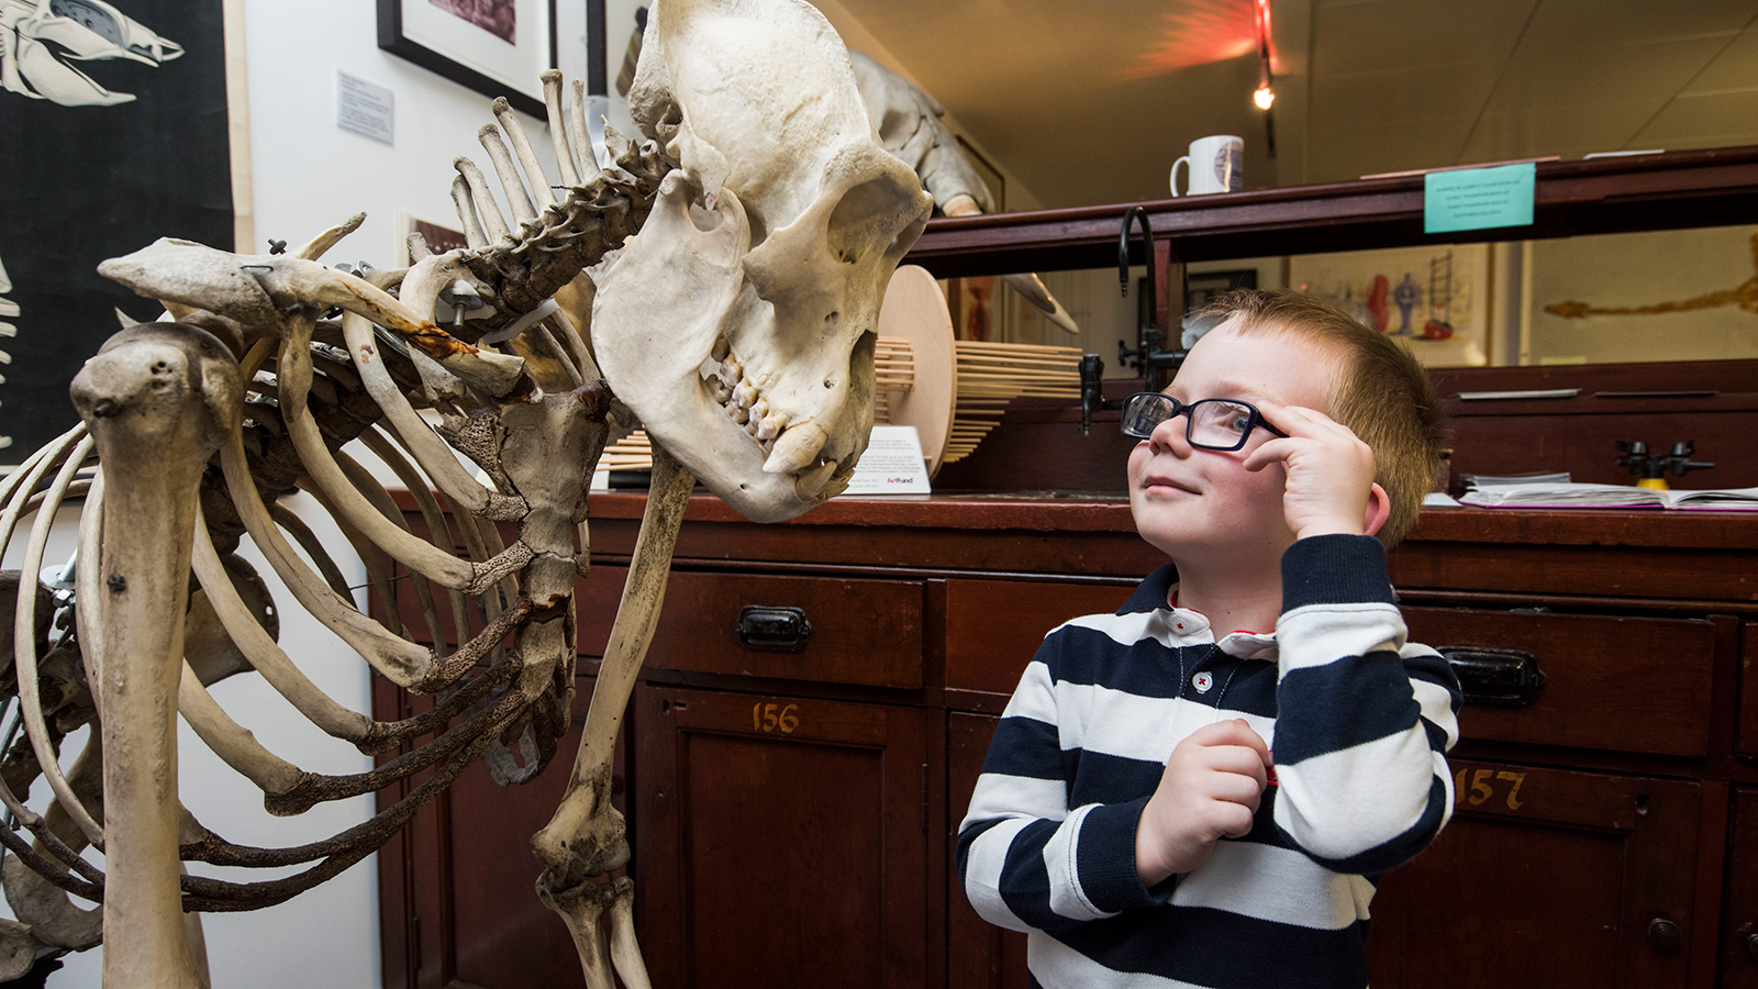
POLYGON ((1201 866, 1220 838, 1243 838, 1264 795, 1269 744, 1243 718, 1217 722, 1178 743, 1136 825, 1143 885, 1201 866))

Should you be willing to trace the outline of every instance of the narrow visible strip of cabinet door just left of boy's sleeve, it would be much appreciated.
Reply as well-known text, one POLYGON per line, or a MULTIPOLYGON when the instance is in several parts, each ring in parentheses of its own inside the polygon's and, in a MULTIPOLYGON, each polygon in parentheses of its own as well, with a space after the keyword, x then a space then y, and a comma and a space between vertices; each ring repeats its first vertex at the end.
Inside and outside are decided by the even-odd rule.
POLYGON ((1025 934, 977 917, 958 885, 958 822, 983 773, 983 757, 1000 718, 951 713, 946 718, 946 984, 953 989, 1027 989, 1025 934))

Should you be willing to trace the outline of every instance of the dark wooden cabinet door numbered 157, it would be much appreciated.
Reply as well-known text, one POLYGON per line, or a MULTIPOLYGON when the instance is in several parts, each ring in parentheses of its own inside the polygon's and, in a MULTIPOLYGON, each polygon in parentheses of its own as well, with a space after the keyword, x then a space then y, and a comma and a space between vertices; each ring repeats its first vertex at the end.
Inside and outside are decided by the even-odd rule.
POLYGON ((1696 783, 1475 760, 1452 771, 1452 822, 1373 897, 1375 989, 1686 985, 1696 783))

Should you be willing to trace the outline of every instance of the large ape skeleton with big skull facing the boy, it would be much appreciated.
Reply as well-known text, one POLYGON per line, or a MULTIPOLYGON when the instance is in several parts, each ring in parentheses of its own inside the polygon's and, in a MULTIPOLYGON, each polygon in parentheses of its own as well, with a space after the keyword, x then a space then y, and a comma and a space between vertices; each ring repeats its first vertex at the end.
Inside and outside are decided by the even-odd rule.
POLYGON ((269 906, 334 876, 478 757, 503 783, 536 776, 568 729, 587 482, 607 440, 642 424, 656 445, 647 514, 566 794, 533 846, 587 984, 647 985, 633 883, 608 880, 629 855, 610 760, 686 500, 700 480, 775 521, 847 484, 872 424, 879 301, 930 201, 874 143, 840 40, 800 0, 657 4, 631 93, 650 139, 612 132, 608 162, 585 137, 580 83, 566 114, 559 74, 545 95, 557 192, 496 100, 501 127, 480 137, 512 222, 459 158, 468 248, 364 276, 320 264, 357 216, 288 253, 162 239, 102 266, 176 322, 111 338, 74 380, 83 424, 0 486, 0 542, 28 533, 9 586, 5 688, 23 737, 0 766, 18 827, 0 841, 19 924, 0 924, 0 978, 102 940, 109 985, 206 985, 193 912, 269 906), (341 449, 352 440, 397 473, 427 535, 341 449), (276 503, 294 489, 364 560, 376 614, 276 503), (74 496, 76 565, 44 570, 74 496), (269 600, 244 538, 294 604, 269 600), (403 626, 387 563, 413 575, 434 646, 403 626), (23 577, 39 572, 49 579, 23 577), (374 722, 323 695, 276 644, 276 607, 292 605, 432 709, 374 722), (209 695, 246 670, 331 736, 397 755, 353 776, 294 766, 209 695), (179 713, 274 815, 427 778, 329 839, 234 845, 178 802, 179 713), (83 725, 91 743, 63 774, 60 743, 83 725), (25 804, 39 776, 54 794, 42 815, 25 804), (302 871, 227 882, 183 862, 302 871))

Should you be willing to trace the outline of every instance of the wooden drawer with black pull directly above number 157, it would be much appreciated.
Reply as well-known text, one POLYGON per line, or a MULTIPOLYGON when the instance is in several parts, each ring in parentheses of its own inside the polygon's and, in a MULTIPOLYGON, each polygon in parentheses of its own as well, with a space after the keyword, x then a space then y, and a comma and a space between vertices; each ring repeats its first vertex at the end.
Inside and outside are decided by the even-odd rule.
POLYGON ((1410 641, 1519 649, 1545 685, 1526 707, 1468 704, 1464 737, 1663 755, 1709 751, 1709 621, 1406 607, 1410 641))

